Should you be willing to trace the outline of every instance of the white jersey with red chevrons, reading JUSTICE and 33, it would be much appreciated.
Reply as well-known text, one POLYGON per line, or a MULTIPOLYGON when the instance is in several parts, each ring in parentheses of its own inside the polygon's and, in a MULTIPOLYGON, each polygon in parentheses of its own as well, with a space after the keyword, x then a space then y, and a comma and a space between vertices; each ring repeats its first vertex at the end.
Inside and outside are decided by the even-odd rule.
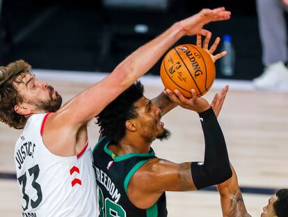
POLYGON ((23 195, 22 216, 96 216, 92 151, 87 143, 77 156, 52 154, 42 141, 48 114, 33 114, 15 146, 17 181, 23 195))

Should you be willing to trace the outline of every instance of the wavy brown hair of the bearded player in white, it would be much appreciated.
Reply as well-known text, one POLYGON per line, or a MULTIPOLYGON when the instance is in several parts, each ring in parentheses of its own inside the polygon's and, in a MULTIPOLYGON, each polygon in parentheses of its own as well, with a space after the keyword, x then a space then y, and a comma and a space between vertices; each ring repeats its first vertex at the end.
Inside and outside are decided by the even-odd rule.
POLYGON ((22 79, 18 79, 20 75, 24 77, 30 70, 31 66, 23 60, 0 67, 0 121, 16 129, 24 128, 27 119, 14 110, 17 103, 22 103, 14 83, 21 83, 22 79))

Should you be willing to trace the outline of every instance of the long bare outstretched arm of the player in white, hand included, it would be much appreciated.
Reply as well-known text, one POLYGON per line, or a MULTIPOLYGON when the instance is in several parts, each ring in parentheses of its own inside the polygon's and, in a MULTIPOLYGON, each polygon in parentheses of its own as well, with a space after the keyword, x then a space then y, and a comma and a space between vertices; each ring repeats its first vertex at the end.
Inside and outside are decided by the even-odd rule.
POLYGON ((65 104, 59 110, 61 119, 67 121, 67 124, 79 126, 90 121, 122 91, 150 70, 179 38, 201 33, 202 27, 209 22, 229 18, 230 12, 225 8, 203 9, 200 13, 173 24, 160 36, 130 54, 104 80, 92 85, 65 104))

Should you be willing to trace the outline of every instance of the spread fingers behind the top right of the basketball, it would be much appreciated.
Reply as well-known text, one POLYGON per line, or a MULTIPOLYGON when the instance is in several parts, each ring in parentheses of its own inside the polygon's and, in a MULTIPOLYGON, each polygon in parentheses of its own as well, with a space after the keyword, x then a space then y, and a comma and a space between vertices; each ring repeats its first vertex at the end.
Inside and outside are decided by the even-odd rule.
POLYGON ((220 42, 220 38, 217 37, 214 40, 213 45, 211 45, 211 47, 209 48, 209 42, 210 42, 211 36, 212 36, 211 31, 207 31, 206 29, 201 29, 200 33, 197 34, 196 45, 198 47, 202 47, 202 49, 204 49, 210 55, 212 61, 215 63, 216 60, 224 57, 227 54, 227 51, 223 51, 219 54, 214 55, 213 53, 218 47, 218 44, 220 42), (203 45, 202 45, 202 36, 205 36, 205 40, 203 41, 203 45))

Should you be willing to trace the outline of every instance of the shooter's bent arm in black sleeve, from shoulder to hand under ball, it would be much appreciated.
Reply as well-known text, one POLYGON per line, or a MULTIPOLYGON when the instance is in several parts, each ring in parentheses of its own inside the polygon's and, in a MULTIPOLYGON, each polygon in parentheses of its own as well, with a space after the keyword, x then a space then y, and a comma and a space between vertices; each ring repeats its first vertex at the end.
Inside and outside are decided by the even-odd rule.
MULTIPOLYGON (((226 94, 227 91, 224 89, 222 93, 226 94)), ((199 112, 205 137, 204 161, 178 164, 155 158, 145 163, 131 178, 127 190, 136 207, 145 209, 151 206, 165 190, 198 190, 220 184, 232 176, 225 140, 216 115, 207 100, 197 98, 194 90, 192 96, 188 102, 184 102, 183 96, 177 95, 181 102, 178 104, 183 106, 185 103, 185 107, 199 112), (151 182, 152 185, 145 184, 151 182)), ((218 97, 217 100, 221 102, 216 104, 222 105, 224 98, 218 97)), ((177 103, 177 100, 171 100, 177 103)))

